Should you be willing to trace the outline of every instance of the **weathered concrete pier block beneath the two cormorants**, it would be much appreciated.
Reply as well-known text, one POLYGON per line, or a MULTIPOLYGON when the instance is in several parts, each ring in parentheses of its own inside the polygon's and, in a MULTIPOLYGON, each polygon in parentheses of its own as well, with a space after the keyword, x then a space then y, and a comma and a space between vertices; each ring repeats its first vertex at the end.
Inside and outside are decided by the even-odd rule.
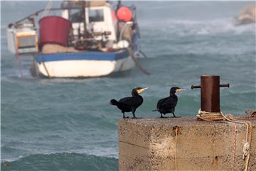
MULTIPOLYGON (((252 121, 248 170, 256 170, 256 121, 252 121)), ((120 119, 119 171, 243 170, 246 125, 196 118, 120 119), (178 126, 176 133, 176 126, 178 126), (176 136, 177 135, 177 136, 176 136)))

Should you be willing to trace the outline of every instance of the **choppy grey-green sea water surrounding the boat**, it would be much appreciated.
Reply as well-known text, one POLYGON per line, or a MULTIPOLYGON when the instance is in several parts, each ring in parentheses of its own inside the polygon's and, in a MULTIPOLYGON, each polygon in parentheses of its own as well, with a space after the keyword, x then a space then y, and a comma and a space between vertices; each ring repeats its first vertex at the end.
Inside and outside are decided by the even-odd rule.
POLYGON ((47 3, 1 2, 1 170, 118 170, 122 114, 109 101, 130 96, 134 87, 149 87, 136 112, 141 117, 159 117, 151 110, 174 86, 186 89, 177 93, 176 116, 195 116, 200 90, 191 85, 201 75, 230 83, 220 91, 223 113, 256 109, 255 25, 232 23, 250 2, 134 2, 148 56, 139 62, 151 75, 134 68, 108 77, 38 79, 28 71, 31 57, 23 57, 20 78, 6 28, 47 3))

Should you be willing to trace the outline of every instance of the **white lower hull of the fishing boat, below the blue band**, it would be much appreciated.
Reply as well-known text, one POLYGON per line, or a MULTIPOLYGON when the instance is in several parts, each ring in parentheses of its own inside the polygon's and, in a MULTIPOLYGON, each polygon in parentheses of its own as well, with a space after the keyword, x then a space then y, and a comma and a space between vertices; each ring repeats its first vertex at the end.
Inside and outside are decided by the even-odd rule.
POLYGON ((100 77, 130 70, 135 63, 129 56, 119 60, 58 60, 36 65, 45 77, 100 77))

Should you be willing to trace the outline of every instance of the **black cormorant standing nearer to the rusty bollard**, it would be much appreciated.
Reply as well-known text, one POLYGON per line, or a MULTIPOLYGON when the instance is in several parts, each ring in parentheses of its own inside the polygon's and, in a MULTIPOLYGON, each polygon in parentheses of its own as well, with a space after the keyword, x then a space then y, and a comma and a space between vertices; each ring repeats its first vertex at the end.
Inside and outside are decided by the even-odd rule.
POLYGON ((181 91, 184 89, 181 89, 179 87, 171 87, 170 90, 170 96, 160 99, 157 103, 156 110, 154 111, 159 111, 161 114, 161 118, 163 118, 163 114, 173 114, 174 118, 176 118, 174 114, 175 106, 178 102, 178 97, 176 96, 176 92, 181 91))

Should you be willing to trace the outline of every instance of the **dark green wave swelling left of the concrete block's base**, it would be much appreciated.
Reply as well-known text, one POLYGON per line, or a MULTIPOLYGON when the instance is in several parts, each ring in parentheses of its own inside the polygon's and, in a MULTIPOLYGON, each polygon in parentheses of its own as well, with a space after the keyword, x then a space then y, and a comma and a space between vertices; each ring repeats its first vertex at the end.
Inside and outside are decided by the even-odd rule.
POLYGON ((118 159, 78 153, 29 155, 18 160, 1 162, 1 170, 118 170, 118 159))

